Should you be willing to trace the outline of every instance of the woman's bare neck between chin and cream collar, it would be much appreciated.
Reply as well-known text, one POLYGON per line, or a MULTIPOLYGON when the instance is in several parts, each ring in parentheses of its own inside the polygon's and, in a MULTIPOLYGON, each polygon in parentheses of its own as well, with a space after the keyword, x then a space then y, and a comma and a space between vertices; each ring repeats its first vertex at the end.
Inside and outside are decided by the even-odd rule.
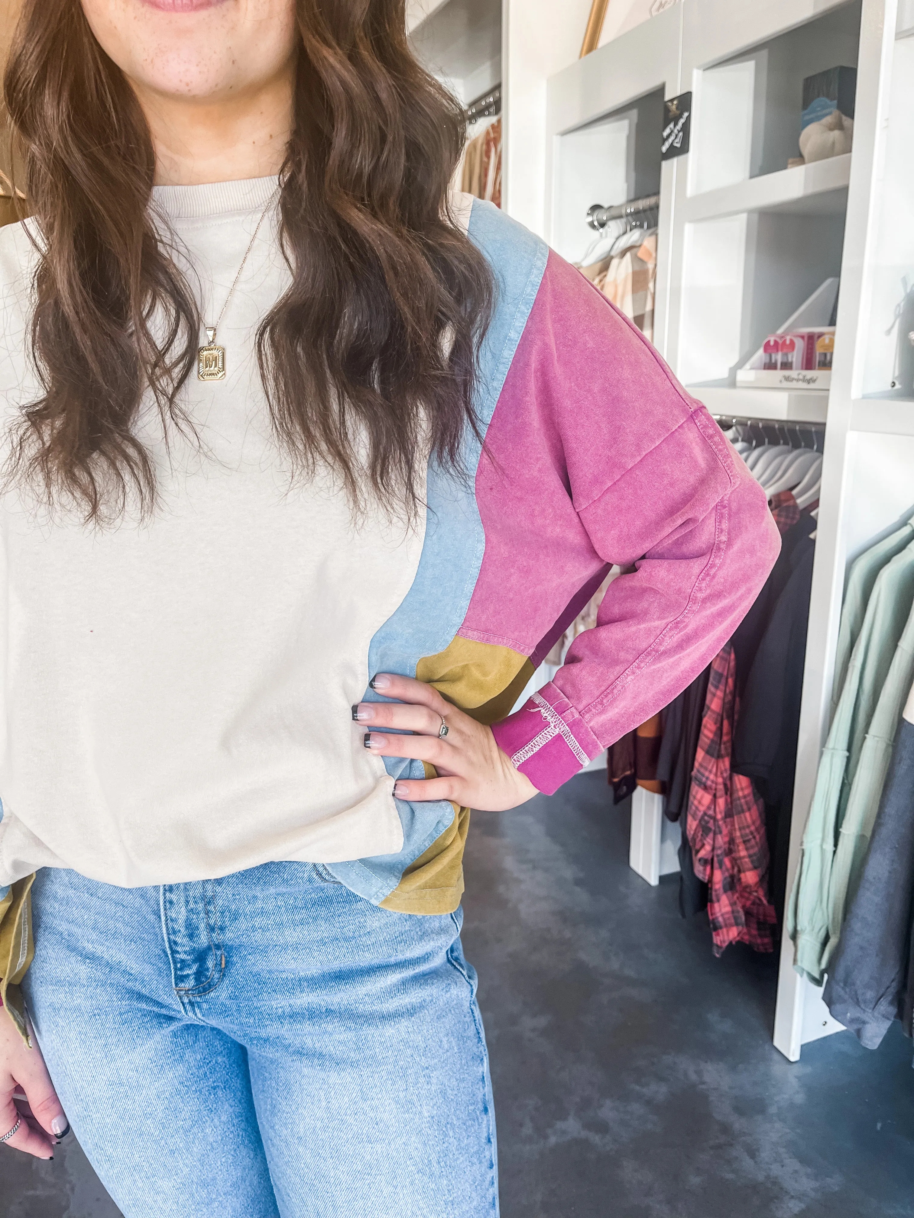
POLYGON ((196 186, 279 173, 292 127, 294 66, 247 93, 175 97, 132 80, 152 135, 156 185, 196 186))

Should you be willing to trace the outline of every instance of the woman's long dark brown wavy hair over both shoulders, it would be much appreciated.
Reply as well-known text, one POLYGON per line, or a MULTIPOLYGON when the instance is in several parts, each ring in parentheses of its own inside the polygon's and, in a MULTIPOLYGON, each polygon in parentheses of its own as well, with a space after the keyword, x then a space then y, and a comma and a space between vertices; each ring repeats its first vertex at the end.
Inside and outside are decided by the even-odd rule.
MULTIPOLYGON (((479 431, 495 287, 447 202, 466 116, 413 57, 405 0, 297 0, 297 26, 279 196, 291 286, 260 325, 261 376, 297 474, 325 463, 355 505, 412 513, 427 458, 459 471, 479 431)), ((4 96, 38 225, 41 385, 9 473, 87 521, 134 502, 146 514, 156 482, 138 410, 151 391, 166 430, 190 428, 179 393, 201 322, 150 214, 145 117, 79 0, 26 0, 4 96)))

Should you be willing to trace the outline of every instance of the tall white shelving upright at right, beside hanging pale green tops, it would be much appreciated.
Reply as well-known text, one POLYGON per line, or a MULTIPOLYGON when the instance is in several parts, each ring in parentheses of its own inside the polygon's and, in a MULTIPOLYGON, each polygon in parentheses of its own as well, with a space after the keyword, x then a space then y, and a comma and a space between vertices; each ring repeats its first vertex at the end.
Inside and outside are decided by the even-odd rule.
MULTIPOLYGON (((907 289, 914 283, 914 236, 907 225, 914 166, 907 113, 914 91, 910 6, 864 0, 854 150, 829 398, 809 636, 793 795, 792 881, 827 730, 841 598, 848 563, 914 505, 914 368, 898 375, 907 333, 907 289), (901 30, 901 37, 896 37, 901 30), (890 330, 886 334, 886 330, 890 330)), ((904 364, 904 361, 902 361, 904 364)), ((792 1061, 801 1046, 838 1030, 819 991, 793 970, 785 943, 775 1044, 792 1061)))

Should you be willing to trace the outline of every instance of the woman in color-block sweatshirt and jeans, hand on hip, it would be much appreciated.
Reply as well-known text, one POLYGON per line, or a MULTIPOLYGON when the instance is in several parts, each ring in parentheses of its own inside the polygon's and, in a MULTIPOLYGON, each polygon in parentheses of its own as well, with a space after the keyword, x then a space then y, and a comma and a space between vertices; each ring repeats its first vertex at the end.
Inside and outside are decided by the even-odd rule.
POLYGON ((129 1218, 497 1213, 468 809, 669 702, 778 548, 634 328, 448 196, 403 30, 27 0, 6 72, 0 1133, 68 1117, 129 1218))

